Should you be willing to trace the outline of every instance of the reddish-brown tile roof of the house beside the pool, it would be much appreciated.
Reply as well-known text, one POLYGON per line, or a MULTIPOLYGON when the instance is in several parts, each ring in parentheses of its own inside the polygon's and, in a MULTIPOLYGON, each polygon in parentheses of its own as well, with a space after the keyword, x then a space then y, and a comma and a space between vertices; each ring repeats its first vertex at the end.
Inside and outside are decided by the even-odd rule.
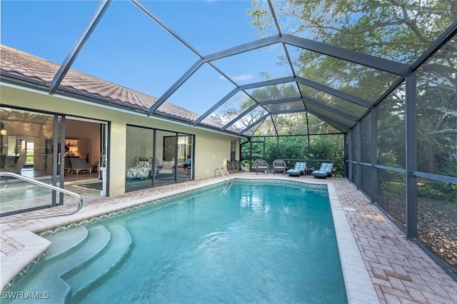
MULTIPOLYGON (((1 72, 28 78, 31 81, 43 83, 45 86, 50 86, 52 79, 59 70, 59 64, 1 44, 0 59, 1 72)), ((59 88, 75 93, 89 94, 94 98, 109 100, 123 106, 133 106, 143 111, 149 111, 149 108, 157 101, 156 97, 119 86, 116 83, 104 81, 74 69, 69 69, 59 88)), ((199 114, 167 101, 158 108, 156 113, 189 122, 194 122, 199 118, 199 114)), ((216 121, 213 121, 210 125, 221 127, 220 123, 216 121)))

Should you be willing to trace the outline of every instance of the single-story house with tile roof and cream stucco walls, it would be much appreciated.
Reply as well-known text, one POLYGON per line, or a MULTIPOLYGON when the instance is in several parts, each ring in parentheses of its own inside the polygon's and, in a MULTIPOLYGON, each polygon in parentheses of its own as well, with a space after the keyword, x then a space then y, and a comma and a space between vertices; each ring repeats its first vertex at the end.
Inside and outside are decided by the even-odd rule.
POLYGON ((58 175, 65 170, 62 153, 65 158, 85 158, 95 169, 106 169, 106 195, 120 196, 132 181, 126 171, 139 158, 150 160, 147 176, 138 180, 149 178, 146 187, 151 187, 153 181, 160 180, 157 185, 214 176, 214 169, 224 166, 239 146, 237 136, 194 126, 196 113, 166 102, 160 116, 149 116, 157 98, 79 71, 70 69, 51 95, 58 64, 4 45, 0 51, 1 154, 16 155, 33 143, 34 171, 58 175), (186 158, 192 158, 191 170, 183 166, 186 158), (161 176, 166 162, 174 163, 161 176))

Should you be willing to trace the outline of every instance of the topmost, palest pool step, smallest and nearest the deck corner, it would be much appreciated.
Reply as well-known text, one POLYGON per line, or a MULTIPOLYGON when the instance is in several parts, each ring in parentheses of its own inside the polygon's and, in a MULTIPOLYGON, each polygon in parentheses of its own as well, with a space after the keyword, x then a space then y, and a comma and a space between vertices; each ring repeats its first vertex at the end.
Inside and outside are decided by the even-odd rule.
POLYGON ((45 238, 51 241, 51 245, 44 252, 46 260, 56 258, 57 256, 76 248, 86 240, 88 233, 86 227, 79 226, 59 233, 46 235, 45 238))

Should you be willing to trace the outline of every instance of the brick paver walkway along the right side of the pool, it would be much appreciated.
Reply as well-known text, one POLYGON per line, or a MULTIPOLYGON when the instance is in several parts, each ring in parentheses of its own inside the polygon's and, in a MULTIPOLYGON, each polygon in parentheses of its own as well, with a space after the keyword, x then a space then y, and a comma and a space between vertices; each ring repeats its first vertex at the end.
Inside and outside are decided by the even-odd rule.
MULTIPOLYGON (((329 179, 330 181, 330 179, 329 179)), ((457 303, 457 283, 346 179, 331 183, 381 303, 457 303)))

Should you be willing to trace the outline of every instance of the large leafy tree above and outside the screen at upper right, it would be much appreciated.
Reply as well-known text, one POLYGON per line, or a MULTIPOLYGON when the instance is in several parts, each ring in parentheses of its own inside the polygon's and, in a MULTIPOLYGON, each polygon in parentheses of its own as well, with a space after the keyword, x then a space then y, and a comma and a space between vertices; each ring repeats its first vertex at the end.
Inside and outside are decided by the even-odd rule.
MULTIPOLYGON (((274 1, 273 8, 283 33, 406 64, 413 64, 457 19, 454 0, 291 0, 274 1)), ((248 14, 258 36, 276 29, 265 2, 253 0, 248 14)), ((442 172, 443 158, 457 155, 455 54, 454 39, 417 72, 418 166, 426 172, 442 172)), ((294 64, 299 66, 297 74, 305 78, 372 102, 397 78, 311 51, 302 51, 294 64)), ((388 162, 394 166, 404 166, 404 98, 401 90, 391 94, 391 108, 386 110, 390 115, 374 122, 392 126, 388 133, 381 129, 378 146, 393 149, 381 157, 390 158, 388 162)), ((452 175, 457 176, 457 172, 452 175)))

